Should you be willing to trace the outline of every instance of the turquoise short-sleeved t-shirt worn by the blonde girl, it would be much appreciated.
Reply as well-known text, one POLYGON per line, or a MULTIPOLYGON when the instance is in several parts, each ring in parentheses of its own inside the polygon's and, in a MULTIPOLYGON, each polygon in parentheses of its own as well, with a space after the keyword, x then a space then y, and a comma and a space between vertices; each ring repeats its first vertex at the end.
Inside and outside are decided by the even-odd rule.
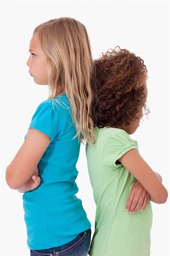
POLYGON ((29 127, 51 139, 38 164, 41 184, 23 195, 27 244, 32 250, 64 245, 90 228, 82 202, 75 195, 80 142, 73 139, 76 129, 71 108, 66 94, 56 100, 42 102, 29 127))

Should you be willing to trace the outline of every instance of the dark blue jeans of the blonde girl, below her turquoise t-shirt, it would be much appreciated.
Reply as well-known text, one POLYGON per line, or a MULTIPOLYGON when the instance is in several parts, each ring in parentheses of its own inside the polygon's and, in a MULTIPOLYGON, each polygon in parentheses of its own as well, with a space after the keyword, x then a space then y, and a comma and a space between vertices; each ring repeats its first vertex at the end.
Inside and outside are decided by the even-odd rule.
POLYGON ((47 250, 31 250, 31 256, 87 256, 90 246, 91 229, 80 233, 73 241, 47 250))

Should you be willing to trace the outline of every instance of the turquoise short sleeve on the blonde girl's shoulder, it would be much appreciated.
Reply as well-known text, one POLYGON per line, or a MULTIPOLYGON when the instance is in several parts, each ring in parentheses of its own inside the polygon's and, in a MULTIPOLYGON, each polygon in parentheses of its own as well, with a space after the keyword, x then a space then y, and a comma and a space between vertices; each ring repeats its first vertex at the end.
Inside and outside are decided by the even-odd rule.
POLYGON ((51 141, 60 132, 60 115, 53 108, 52 100, 42 102, 32 117, 30 128, 37 129, 46 134, 51 141))

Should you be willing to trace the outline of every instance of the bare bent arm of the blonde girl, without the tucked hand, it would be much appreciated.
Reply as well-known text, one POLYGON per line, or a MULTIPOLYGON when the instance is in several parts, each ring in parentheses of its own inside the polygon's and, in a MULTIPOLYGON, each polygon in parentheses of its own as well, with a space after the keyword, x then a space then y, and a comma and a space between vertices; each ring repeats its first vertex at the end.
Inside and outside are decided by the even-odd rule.
POLYGON ((27 183, 34 174, 50 141, 50 138, 41 131, 28 130, 22 147, 6 169, 6 182, 10 188, 20 189, 27 183))

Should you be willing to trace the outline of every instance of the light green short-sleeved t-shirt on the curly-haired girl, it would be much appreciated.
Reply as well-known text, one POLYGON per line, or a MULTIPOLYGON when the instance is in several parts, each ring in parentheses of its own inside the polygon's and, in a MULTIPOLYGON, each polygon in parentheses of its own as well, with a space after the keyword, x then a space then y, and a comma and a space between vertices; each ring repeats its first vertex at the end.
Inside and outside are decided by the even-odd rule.
POLYGON ((144 212, 130 214, 126 202, 134 176, 117 160, 132 148, 138 150, 126 131, 95 128, 97 142, 86 148, 90 182, 96 202, 95 233, 89 255, 148 256, 152 226, 151 203, 144 212))

